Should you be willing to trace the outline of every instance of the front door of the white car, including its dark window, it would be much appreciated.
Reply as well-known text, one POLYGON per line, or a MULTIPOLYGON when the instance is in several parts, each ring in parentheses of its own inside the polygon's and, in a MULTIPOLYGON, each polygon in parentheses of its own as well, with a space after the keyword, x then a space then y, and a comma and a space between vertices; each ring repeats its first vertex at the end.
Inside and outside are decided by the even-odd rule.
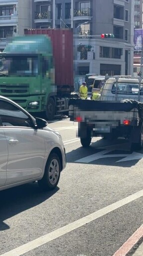
POLYGON ((32 118, 13 103, 0 99, 0 117, 7 141, 6 184, 41 174, 45 156, 42 130, 34 128, 32 118))

